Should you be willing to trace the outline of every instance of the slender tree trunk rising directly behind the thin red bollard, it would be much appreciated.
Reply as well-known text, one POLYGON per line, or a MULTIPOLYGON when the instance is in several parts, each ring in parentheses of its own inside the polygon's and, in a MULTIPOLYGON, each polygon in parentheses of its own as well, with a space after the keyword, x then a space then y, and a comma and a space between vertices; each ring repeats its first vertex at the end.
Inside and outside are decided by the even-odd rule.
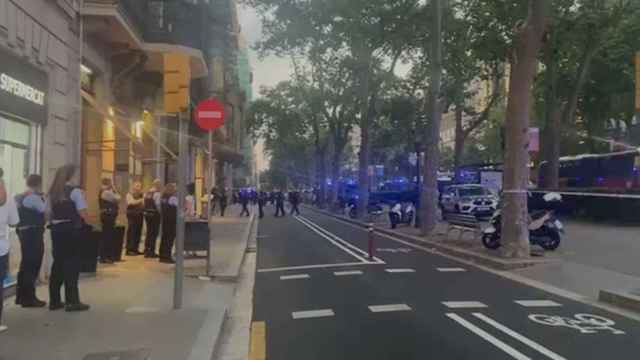
POLYGON ((360 102, 360 153, 358 154, 358 216, 364 218, 369 204, 369 155, 371 144, 369 139, 369 90, 371 76, 371 50, 366 45, 359 45, 358 51, 358 100, 360 102))

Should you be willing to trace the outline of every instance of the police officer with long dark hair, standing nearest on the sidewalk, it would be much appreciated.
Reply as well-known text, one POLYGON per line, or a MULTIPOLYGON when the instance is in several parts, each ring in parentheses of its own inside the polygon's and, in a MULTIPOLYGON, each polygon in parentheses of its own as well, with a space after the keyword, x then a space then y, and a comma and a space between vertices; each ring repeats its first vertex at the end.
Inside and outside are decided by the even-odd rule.
POLYGON ((78 277, 79 252, 83 231, 87 224, 87 201, 78 187, 72 185, 76 173, 74 165, 65 165, 56 171, 49 190, 48 210, 51 212, 51 245, 53 264, 49 279, 49 309, 86 311, 89 305, 80 302, 78 277), (64 284, 65 301, 60 289, 64 284))

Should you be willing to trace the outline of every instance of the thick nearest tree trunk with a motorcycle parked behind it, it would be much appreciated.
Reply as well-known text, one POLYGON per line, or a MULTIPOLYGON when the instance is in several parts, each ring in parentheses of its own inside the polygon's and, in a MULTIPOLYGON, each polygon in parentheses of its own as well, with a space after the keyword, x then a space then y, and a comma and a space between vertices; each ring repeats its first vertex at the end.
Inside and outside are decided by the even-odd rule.
POLYGON ((527 185, 531 87, 547 24, 549 0, 529 0, 527 22, 517 33, 511 61, 506 119, 502 248, 504 257, 530 255, 527 185))

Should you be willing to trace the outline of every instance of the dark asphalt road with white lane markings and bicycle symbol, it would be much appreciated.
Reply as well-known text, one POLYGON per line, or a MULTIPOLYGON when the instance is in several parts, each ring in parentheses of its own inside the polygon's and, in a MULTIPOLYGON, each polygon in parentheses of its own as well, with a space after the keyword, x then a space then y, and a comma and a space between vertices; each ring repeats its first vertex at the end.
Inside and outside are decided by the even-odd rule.
MULTIPOLYGON (((269 213, 270 215, 270 213, 269 213)), ((640 323, 317 213, 262 219, 269 360, 638 359, 640 323), (517 302, 520 301, 520 302, 517 302)))

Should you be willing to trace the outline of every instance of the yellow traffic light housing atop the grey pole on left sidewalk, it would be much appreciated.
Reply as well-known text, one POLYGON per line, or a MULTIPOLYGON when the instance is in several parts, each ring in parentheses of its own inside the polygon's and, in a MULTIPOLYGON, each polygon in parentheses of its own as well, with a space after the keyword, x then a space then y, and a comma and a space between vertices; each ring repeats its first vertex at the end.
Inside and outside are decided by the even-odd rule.
POLYGON ((191 67, 189 56, 179 53, 163 54, 164 111, 178 113, 189 106, 191 67))

